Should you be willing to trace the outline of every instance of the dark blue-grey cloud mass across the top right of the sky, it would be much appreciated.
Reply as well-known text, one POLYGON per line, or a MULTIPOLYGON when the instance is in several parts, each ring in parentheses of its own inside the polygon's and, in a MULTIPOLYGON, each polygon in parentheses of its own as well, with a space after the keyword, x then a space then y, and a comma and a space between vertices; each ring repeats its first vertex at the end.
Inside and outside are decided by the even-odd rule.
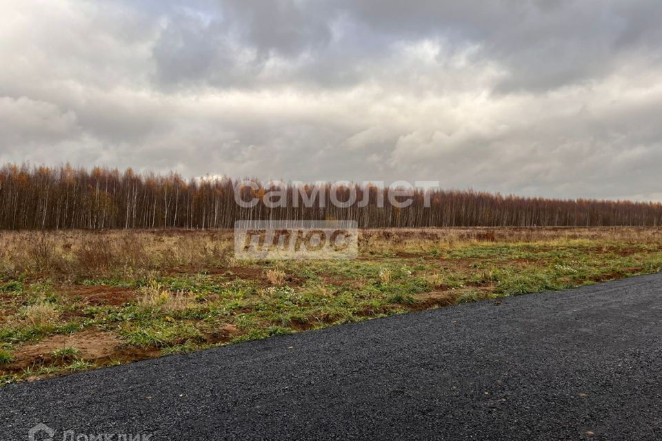
POLYGON ((544 91, 599 79, 662 43, 661 8, 644 0, 237 0, 205 6, 197 15, 169 16, 155 51, 166 82, 361 83, 365 78, 353 74, 357 65, 383 59, 395 43, 444 39, 453 50, 479 45, 475 59, 503 65, 508 72, 499 91, 544 91), (265 75, 274 59, 299 63, 265 75))

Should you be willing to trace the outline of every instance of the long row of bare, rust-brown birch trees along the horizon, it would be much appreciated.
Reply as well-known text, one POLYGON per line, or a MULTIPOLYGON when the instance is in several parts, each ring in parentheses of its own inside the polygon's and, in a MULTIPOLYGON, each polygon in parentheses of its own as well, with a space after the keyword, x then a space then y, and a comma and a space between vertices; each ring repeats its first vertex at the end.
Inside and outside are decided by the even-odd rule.
POLYGON ((131 169, 5 165, 0 169, 1 229, 232 228, 235 220, 356 220, 360 227, 659 226, 662 204, 555 200, 473 191, 418 189, 410 197, 352 184, 241 189, 228 178, 136 174, 131 169), (352 193, 354 200, 352 200, 352 193), (390 198, 400 204, 390 203, 390 198), (397 207, 411 200, 407 207, 397 207), (248 201, 254 205, 248 207, 248 201), (312 205, 307 201, 312 200, 312 205), (333 201, 339 203, 333 203, 333 201), (321 203, 321 201, 324 201, 321 203), (342 204, 349 201, 348 204, 342 204), (242 206, 243 205, 243 206, 242 206), (347 205, 347 206, 343 206, 347 205))

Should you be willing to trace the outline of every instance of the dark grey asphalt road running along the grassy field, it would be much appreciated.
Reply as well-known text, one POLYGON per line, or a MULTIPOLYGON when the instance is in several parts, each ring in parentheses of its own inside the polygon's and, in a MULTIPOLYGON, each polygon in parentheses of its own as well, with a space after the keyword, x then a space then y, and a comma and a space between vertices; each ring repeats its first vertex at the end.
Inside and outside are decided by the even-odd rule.
POLYGON ((0 440, 657 440, 661 325, 660 274, 370 320, 2 387, 0 440))

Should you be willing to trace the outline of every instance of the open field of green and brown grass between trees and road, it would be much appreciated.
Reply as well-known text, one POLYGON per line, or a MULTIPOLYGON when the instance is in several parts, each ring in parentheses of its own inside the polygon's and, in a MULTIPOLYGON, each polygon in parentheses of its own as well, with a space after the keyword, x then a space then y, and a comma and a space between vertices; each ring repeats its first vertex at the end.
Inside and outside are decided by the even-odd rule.
POLYGON ((662 269, 662 229, 364 230, 343 261, 238 262, 232 232, 3 232, 0 382, 662 269))

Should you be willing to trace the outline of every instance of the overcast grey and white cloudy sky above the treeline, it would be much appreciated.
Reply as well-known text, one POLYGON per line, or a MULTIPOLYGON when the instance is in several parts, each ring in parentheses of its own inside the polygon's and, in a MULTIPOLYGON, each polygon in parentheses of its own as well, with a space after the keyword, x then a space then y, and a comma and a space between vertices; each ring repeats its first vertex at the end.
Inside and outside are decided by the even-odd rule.
POLYGON ((662 201, 659 0, 0 0, 0 161, 662 201))

